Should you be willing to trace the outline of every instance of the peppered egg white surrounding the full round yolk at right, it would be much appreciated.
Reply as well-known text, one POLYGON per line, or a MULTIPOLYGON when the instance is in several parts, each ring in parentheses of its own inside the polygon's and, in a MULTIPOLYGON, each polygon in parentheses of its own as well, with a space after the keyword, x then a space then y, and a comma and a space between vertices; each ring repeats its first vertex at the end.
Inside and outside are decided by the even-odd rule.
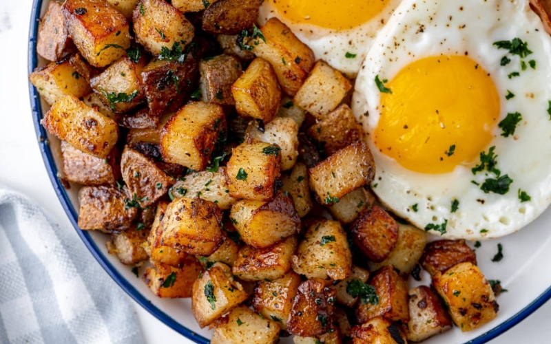
POLYGON ((353 112, 366 131, 377 167, 373 191, 383 204, 419 228, 447 219, 444 237, 487 239, 514 233, 551 202, 550 100, 551 37, 527 0, 402 1, 368 52, 353 95, 353 112), (515 37, 528 42, 533 54, 526 61, 537 61, 536 69, 521 72, 519 56, 510 54, 511 63, 500 65, 507 51, 493 43, 515 37), (501 102, 497 122, 508 112, 518 111, 523 117, 514 137, 500 136, 496 125, 485 149, 496 147, 497 168, 513 180, 506 195, 484 193, 472 184, 472 180, 481 184, 488 178, 470 171, 478 158, 468 166, 456 166, 451 173, 416 173, 381 153, 371 140, 380 118, 375 76, 391 80, 417 59, 466 53, 494 80, 501 102), (508 78, 511 72, 520 72, 520 76, 508 78), (507 90, 516 96, 506 100, 507 90), (518 189, 530 195, 530 202, 519 200, 518 189), (454 199, 459 200, 459 209, 451 213, 454 199))

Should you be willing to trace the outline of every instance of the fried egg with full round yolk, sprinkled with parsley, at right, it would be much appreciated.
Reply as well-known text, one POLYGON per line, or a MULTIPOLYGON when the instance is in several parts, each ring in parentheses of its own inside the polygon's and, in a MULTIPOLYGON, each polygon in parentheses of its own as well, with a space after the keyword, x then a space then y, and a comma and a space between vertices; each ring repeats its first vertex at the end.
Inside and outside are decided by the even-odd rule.
POLYGON ((381 202, 449 238, 514 233, 551 201, 551 37, 527 0, 404 0, 352 100, 381 202))

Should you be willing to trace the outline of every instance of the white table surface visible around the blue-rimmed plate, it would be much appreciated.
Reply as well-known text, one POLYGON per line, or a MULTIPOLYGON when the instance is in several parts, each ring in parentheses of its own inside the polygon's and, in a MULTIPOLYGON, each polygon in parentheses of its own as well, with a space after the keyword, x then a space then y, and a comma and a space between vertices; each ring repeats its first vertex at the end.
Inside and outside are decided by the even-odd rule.
MULTIPOLYGON (((0 0, 0 184, 38 202, 62 228, 73 232, 58 202, 34 136, 27 83, 31 0, 0 0)), ((76 234, 75 234, 76 235, 76 234)), ((83 252, 84 255, 90 254, 83 252)), ((105 278, 110 278, 105 273, 105 278)), ((514 295, 507 295, 514 297, 514 295)), ((146 343, 191 343, 134 303, 146 343)), ((551 303, 491 341, 550 343, 551 303)))

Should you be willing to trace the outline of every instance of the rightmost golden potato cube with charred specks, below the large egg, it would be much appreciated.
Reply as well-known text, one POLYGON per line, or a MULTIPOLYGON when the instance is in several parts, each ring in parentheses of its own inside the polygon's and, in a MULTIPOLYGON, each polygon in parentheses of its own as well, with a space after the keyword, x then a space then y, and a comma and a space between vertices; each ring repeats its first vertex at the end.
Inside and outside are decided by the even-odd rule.
POLYGON ((433 276, 433 286, 448 305, 461 331, 474 330, 497 316, 499 305, 490 283, 470 262, 459 263, 433 276))

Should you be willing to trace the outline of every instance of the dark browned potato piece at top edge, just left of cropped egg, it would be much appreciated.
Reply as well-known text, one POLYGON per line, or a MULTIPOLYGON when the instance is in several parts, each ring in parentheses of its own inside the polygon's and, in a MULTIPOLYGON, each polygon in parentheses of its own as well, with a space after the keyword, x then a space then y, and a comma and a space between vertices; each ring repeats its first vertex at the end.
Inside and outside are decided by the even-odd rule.
POLYGON ((256 23, 260 0, 218 0, 202 15, 202 30, 211 34, 238 34, 256 23))

